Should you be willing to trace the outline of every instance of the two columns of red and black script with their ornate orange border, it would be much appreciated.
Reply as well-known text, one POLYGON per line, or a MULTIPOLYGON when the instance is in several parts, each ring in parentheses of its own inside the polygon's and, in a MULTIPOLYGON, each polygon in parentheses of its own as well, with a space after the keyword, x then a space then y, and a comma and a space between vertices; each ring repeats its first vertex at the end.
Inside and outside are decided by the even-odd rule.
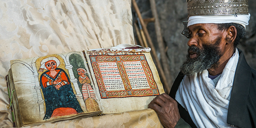
POLYGON ((144 54, 90 56, 90 60, 101 98, 159 95, 144 54))

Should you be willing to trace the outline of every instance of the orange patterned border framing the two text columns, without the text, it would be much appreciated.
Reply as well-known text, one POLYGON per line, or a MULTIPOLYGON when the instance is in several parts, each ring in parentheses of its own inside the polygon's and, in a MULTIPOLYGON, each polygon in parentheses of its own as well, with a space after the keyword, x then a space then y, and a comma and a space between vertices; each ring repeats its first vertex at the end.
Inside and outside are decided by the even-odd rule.
MULTIPOLYGON (((130 53, 130 52, 128 52, 130 53)), ((101 98, 121 98, 121 97, 130 97, 130 96, 156 96, 159 95, 159 91, 156 85, 156 82, 153 78, 153 74, 148 66, 148 62, 146 61, 146 58, 144 54, 136 54, 136 55, 109 55, 106 53, 88 53, 92 68, 96 77, 96 81, 98 84, 98 88, 100 91, 101 98), (103 55, 102 55, 103 54, 103 55), (135 90, 132 89, 130 85, 130 80, 128 79, 128 75, 126 73, 124 63, 123 62, 132 62, 132 61, 140 61, 143 67, 143 70, 145 72, 146 78, 148 80, 148 84, 150 88, 148 89, 139 89, 135 90), (104 82, 101 76, 100 68, 98 66, 98 62, 116 62, 118 66, 118 70, 120 73, 120 76, 122 77, 122 82, 124 84, 125 90, 116 90, 116 91, 107 91, 104 82)), ((122 52, 122 54, 125 54, 122 52)))

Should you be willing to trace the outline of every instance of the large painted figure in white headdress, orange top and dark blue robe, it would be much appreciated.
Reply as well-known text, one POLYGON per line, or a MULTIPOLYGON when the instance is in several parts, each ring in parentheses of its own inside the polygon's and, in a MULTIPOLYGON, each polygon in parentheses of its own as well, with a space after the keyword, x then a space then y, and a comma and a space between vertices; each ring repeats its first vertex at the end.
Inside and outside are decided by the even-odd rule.
POLYGON ((46 107, 44 120, 83 112, 73 92, 68 74, 61 68, 57 68, 59 65, 58 58, 49 57, 41 61, 38 70, 38 72, 47 70, 40 77, 46 107))

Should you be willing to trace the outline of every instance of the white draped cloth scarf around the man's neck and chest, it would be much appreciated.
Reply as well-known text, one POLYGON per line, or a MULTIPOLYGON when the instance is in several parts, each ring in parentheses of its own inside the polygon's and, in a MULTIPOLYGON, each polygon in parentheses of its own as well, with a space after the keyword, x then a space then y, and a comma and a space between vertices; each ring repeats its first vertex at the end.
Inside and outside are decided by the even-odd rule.
POLYGON ((228 104, 238 58, 236 49, 216 87, 207 70, 184 76, 175 99, 189 112, 198 128, 231 128, 227 124, 228 104))

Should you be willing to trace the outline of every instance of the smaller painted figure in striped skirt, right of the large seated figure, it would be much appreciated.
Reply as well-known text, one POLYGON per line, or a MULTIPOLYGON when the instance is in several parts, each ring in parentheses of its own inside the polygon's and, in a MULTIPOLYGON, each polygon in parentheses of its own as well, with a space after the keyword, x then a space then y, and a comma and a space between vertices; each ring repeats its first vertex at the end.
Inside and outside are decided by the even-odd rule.
POLYGON ((87 74, 86 70, 84 68, 78 68, 77 72, 80 75, 78 77, 78 80, 80 84, 82 84, 82 94, 84 97, 84 102, 85 102, 87 111, 88 112, 100 111, 98 103, 96 102, 96 96, 95 96, 94 90, 92 89, 92 86, 91 86, 90 78, 86 76, 87 74))

